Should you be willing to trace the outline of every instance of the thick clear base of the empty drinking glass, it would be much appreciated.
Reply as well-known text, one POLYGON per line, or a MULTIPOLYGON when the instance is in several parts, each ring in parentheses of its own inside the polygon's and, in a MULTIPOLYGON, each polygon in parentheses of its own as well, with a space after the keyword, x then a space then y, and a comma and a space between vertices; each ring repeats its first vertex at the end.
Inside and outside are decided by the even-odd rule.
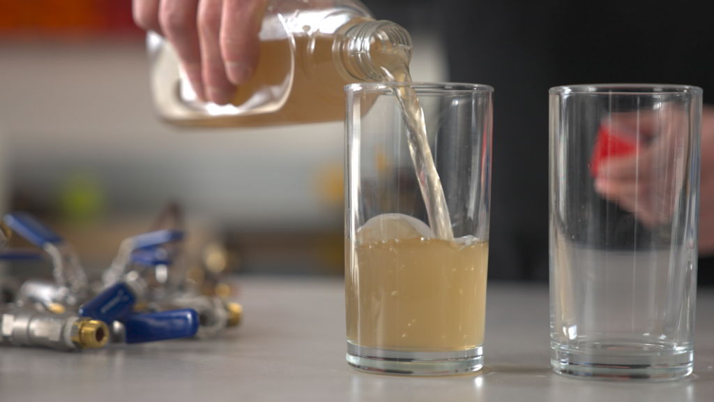
POLYGON ((675 380, 692 373, 693 351, 624 342, 570 349, 554 344, 550 365, 556 373, 580 378, 675 380))

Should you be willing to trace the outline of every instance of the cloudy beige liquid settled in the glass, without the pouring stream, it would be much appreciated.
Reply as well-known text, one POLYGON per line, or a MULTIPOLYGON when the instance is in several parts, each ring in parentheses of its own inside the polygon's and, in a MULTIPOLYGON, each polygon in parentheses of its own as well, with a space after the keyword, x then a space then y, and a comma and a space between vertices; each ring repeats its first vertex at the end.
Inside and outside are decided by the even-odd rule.
POLYGON ((368 348, 453 351, 483 343, 488 242, 411 238, 356 246, 347 339, 368 348))

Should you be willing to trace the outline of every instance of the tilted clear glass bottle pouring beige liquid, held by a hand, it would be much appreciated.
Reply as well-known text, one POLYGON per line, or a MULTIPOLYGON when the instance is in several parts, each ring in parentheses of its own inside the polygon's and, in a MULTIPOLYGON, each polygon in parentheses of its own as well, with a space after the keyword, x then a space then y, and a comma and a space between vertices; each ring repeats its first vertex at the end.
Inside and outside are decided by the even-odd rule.
POLYGON ((408 32, 376 21, 357 0, 271 0, 258 37, 261 55, 253 78, 238 87, 231 103, 218 105, 196 97, 171 44, 150 32, 156 111, 188 126, 341 120, 346 84, 392 81, 385 64, 396 57, 406 69, 411 61, 408 32))

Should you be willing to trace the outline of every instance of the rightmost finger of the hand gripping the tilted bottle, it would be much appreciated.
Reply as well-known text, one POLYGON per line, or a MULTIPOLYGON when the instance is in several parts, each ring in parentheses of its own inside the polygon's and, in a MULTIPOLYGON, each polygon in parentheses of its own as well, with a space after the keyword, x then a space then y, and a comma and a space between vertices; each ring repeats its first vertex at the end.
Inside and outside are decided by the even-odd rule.
POLYGON ((267 0, 223 0, 221 53, 233 84, 244 84, 258 64, 258 32, 267 0))

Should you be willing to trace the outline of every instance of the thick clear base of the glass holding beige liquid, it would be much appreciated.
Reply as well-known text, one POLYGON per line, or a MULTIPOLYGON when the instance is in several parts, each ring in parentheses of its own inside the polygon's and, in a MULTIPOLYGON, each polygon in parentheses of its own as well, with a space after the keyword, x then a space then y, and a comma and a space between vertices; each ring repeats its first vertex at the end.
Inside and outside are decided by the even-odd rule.
POLYGON ((474 373, 483 367, 483 346, 457 352, 405 352, 364 348, 347 341, 347 363, 370 373, 408 376, 474 373))

